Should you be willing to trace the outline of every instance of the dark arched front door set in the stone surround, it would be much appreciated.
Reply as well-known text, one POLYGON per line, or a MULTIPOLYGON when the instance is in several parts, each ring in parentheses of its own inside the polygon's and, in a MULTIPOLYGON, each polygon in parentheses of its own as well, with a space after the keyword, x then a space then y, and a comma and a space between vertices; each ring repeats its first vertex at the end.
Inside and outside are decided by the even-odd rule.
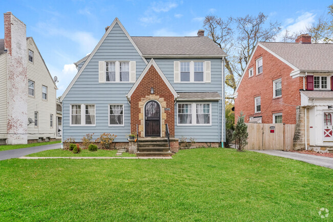
POLYGON ((161 107, 157 101, 148 101, 144 106, 144 136, 161 136, 161 107))

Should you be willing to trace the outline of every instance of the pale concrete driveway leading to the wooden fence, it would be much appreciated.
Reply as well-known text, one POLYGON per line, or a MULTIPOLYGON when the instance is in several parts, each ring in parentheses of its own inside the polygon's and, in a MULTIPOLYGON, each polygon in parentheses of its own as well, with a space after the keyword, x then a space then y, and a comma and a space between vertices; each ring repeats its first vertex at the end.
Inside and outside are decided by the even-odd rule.
POLYGON ((284 157, 293 160, 299 160, 306 163, 323 166, 333 169, 333 158, 315 156, 311 154, 303 154, 298 152, 286 152, 282 150, 251 150, 255 152, 261 152, 272 156, 284 157))

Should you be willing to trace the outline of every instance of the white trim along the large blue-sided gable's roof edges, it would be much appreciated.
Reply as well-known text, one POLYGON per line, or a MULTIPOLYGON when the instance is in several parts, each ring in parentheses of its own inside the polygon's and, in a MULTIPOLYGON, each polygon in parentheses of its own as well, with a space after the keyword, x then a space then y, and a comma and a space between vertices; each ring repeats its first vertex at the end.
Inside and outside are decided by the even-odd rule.
POLYGON ((68 92, 70 91, 70 89, 72 88, 72 86, 74 85, 74 83, 76 82, 76 80, 78 79, 78 77, 85 70, 85 68, 88 65, 88 63, 90 62, 91 58, 95 55, 95 53, 97 52, 97 50, 99 49, 99 47, 102 45, 103 41, 106 39, 106 37, 109 35, 109 33, 111 32, 111 30, 113 29, 113 27, 116 24, 118 24, 119 27, 122 29, 122 31, 125 33, 125 35, 127 36, 127 38, 130 40, 130 42, 132 43, 132 45, 134 46, 134 48, 136 49, 136 51, 139 53, 139 55, 143 59, 143 61, 146 64, 148 64, 147 60, 142 56, 142 53, 139 50, 139 48, 135 45, 135 43, 134 43, 133 39, 131 38, 131 36, 128 34, 128 32, 126 31, 126 29, 120 23, 119 19, 116 17, 113 20, 113 23, 110 25, 109 29, 106 31, 106 33, 103 35, 103 37, 99 40, 99 42, 96 45, 95 49, 92 51, 92 53, 90 53, 90 55, 89 55, 88 59, 85 61, 84 65, 82 65, 81 69, 77 72, 77 74, 74 77, 74 79, 71 81, 71 83, 69 84, 69 86, 66 88, 64 94, 60 98, 60 102, 63 102, 64 98, 66 97, 66 95, 68 94, 68 92))

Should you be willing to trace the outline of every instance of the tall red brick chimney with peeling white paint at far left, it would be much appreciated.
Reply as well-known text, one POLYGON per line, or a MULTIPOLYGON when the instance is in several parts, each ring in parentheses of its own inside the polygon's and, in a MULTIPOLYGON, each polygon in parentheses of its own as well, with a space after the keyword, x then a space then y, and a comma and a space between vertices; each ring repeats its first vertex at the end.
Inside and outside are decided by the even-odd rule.
POLYGON ((7 144, 26 144, 28 78, 26 25, 11 12, 4 13, 7 50, 7 144))

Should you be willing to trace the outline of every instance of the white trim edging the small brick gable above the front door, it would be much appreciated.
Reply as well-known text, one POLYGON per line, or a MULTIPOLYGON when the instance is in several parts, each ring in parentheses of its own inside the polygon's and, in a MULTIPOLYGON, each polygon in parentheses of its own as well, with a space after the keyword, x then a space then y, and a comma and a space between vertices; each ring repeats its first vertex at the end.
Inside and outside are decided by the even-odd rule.
POLYGON ((136 82, 132 86, 132 88, 129 91, 129 93, 126 95, 126 97, 128 98, 128 100, 131 100, 131 96, 134 93, 136 87, 138 87, 139 83, 141 82, 141 80, 143 79, 143 77, 145 76, 145 74, 148 72, 148 70, 151 68, 152 65, 154 66, 154 68, 156 69, 157 73, 160 75, 160 77, 162 78, 162 80, 165 82, 166 86, 168 86, 169 90, 174 95, 175 99, 178 98, 179 95, 175 91, 174 87, 172 87, 172 85, 169 82, 169 80, 166 79, 166 77, 164 76, 163 72, 160 70, 160 68, 156 64, 155 60, 152 58, 150 60, 150 62, 147 64, 147 66, 145 66, 144 70, 142 71, 141 75, 139 76, 139 78, 136 80, 136 82))

